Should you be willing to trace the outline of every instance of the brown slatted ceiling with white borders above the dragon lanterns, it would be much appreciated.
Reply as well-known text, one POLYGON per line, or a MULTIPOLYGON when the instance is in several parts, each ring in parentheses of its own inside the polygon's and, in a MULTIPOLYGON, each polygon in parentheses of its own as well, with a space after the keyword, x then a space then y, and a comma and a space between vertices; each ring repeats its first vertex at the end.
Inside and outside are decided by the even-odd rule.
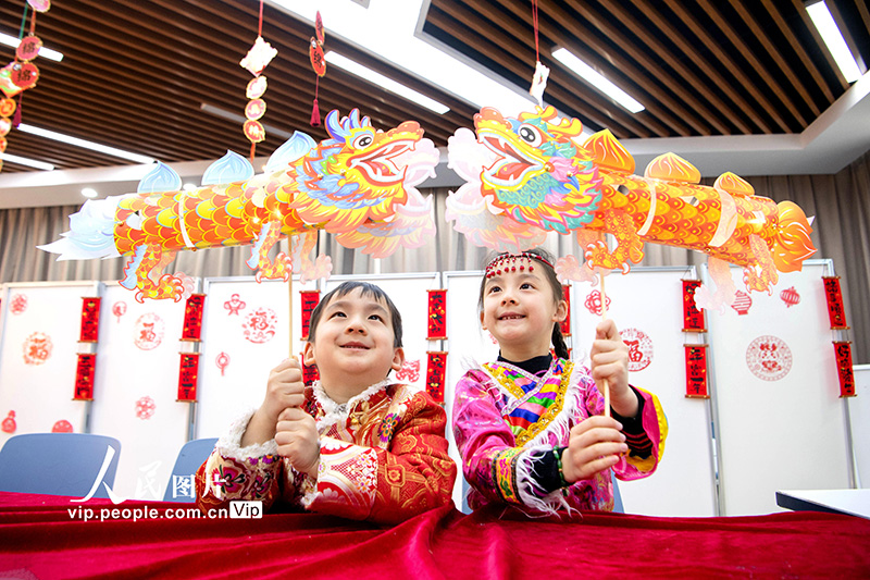
MULTIPOLYGON (((415 120, 444 147, 457 127, 472 126, 478 107, 331 29, 330 11, 365 14, 390 2, 420 4, 298 3, 324 12, 327 50, 430 96, 449 112, 436 114, 330 65, 318 87, 321 113, 358 107, 383 128, 415 120)), ((866 72, 866 1, 828 3, 845 23, 866 72)), ((201 174, 227 149, 247 156, 240 122, 209 111, 244 114, 251 74, 238 62, 257 38, 259 8, 257 0, 53 0, 39 14, 36 34, 64 59, 37 59, 40 77, 23 94, 23 122, 159 159, 183 176, 201 174)), ((23 10, 24 0, 0 3, 0 32, 17 36, 23 10)), ((391 34, 386 23, 378 29, 363 21, 360 27, 391 34)), ((532 22, 529 0, 431 0, 419 8, 415 36, 523 92, 535 63, 532 22)), ((258 157, 295 129, 326 137, 323 127, 309 125, 312 23, 268 1, 262 36, 278 54, 263 72, 268 137, 257 146, 258 157)), ((833 173, 870 149, 870 75, 846 83, 800 0, 539 0, 538 46, 551 70, 545 101, 589 131, 610 128, 635 156, 638 171, 652 156, 672 150, 705 175, 833 173), (552 59, 557 47, 572 50, 646 109, 629 113, 585 84, 552 59)), ((13 52, 0 46, 4 62, 13 52)), ((0 207, 78 203, 88 184, 100 194, 125 193, 148 170, 21 131, 7 137, 8 153, 57 170, 7 161, 0 207)), ((442 173, 438 183, 449 184, 450 172, 442 173)))

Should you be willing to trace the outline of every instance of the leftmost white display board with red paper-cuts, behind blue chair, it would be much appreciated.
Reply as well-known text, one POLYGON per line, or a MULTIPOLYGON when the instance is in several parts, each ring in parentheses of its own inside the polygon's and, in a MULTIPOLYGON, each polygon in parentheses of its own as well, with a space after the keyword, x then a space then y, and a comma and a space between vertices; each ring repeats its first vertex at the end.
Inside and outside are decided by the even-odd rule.
POLYGON ((97 296, 98 292, 97 282, 4 286, 0 446, 24 433, 85 430, 88 403, 73 400, 76 354, 82 297, 97 296))

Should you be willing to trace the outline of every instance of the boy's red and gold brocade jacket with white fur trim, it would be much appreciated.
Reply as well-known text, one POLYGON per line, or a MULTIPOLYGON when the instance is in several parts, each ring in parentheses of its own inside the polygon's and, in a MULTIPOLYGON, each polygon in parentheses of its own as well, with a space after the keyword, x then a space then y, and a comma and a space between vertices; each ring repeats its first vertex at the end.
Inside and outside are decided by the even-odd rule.
POLYGON ((306 392, 316 420, 316 479, 296 471, 271 440, 239 448, 252 412, 234 423, 200 466, 200 509, 233 499, 281 499, 320 514, 394 525, 451 502, 456 464, 447 455, 444 409, 428 394, 388 381, 372 385, 346 406, 320 385, 306 392))

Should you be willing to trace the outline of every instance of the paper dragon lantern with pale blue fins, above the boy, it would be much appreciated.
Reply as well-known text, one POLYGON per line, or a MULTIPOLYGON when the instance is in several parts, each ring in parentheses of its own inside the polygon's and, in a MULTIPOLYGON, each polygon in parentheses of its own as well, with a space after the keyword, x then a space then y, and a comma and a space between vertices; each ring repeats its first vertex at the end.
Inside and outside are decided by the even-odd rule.
POLYGON ((137 291, 138 301, 179 301, 192 292, 192 281, 162 270, 182 249, 251 244, 247 263, 258 270, 257 280, 287 281, 293 272, 307 274, 303 268, 316 275, 331 270, 321 258, 270 258, 288 235, 296 248, 313 248, 324 229, 340 245, 376 258, 425 244, 435 233, 433 198, 415 185, 434 175, 439 153, 420 125, 408 121, 381 131, 355 109, 344 119, 332 111, 326 131, 330 138, 320 144, 295 133, 263 174, 254 175, 241 156, 225 156, 207 171, 222 181, 190 192, 182 192, 177 173, 159 163, 138 193, 86 201, 71 215, 72 230, 39 248, 62 259, 130 256, 121 285, 137 291))

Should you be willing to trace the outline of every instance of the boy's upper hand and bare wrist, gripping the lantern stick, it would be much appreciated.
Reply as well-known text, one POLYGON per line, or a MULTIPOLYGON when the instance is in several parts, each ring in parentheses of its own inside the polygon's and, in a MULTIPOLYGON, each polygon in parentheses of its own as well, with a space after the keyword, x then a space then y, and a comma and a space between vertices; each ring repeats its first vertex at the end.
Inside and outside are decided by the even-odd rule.
POLYGON ((302 367, 295 358, 289 358, 272 369, 265 398, 248 422, 248 428, 241 435, 241 446, 265 443, 274 437, 278 415, 287 407, 300 407, 306 400, 304 388, 302 367))

